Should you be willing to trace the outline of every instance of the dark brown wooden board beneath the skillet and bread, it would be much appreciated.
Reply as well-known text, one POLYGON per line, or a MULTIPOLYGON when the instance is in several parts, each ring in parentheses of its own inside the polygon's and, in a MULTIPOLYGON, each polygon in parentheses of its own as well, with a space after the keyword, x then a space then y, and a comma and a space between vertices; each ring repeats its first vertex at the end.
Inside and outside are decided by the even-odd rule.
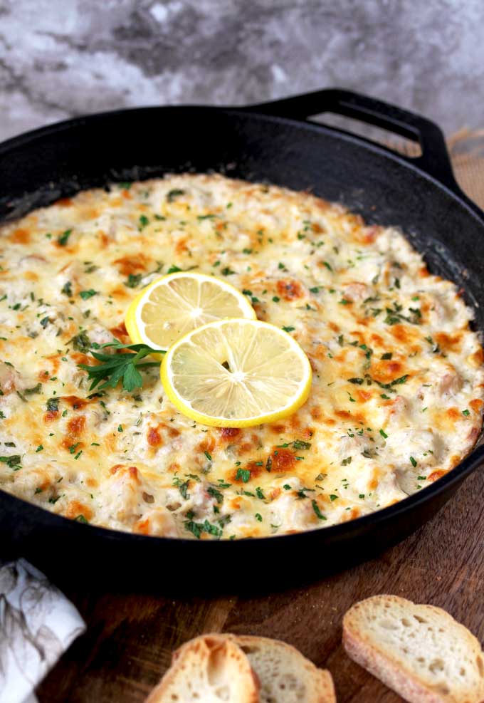
MULTIPOLYGON (((212 600, 102 593, 93 574, 87 593, 66 593, 88 631, 38 688, 39 702, 141 703, 168 667, 174 648, 201 632, 219 631, 278 637, 295 645, 332 672, 341 703, 399 701, 344 654, 342 616, 356 600, 395 593, 446 608, 483 642, 483 496, 481 469, 436 518, 380 558, 282 593, 212 600)), ((256 581, 256 564, 249 568, 256 581)))

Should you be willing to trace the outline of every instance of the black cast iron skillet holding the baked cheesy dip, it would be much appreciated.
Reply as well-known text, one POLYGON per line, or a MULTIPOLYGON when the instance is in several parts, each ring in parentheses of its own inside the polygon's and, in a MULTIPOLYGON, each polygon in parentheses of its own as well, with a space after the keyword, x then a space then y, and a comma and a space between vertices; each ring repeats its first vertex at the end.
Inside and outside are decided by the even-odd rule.
MULTIPOLYGON (((475 326, 484 329, 484 214, 458 188, 441 131, 406 110, 344 90, 250 108, 118 110, 15 137, 0 145, 0 217, 17 217, 83 188, 186 171, 310 189, 367 222, 401 226, 431 271, 464 289, 475 326), (419 141, 422 155, 409 159, 305 121, 325 112, 419 141)), ((77 579, 109 573, 164 588, 273 587, 349 566, 400 541, 483 463, 478 446, 432 486, 377 513, 312 532, 241 541, 173 540, 86 526, 0 491, 1 556, 22 554, 49 573, 77 579)))

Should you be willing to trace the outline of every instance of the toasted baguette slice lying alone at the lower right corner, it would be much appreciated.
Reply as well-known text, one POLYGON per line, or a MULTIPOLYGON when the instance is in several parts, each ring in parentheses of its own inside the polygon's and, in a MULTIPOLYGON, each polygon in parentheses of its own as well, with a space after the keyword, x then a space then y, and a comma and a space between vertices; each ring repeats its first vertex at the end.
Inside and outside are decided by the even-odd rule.
POLYGON ((375 595, 343 618, 344 649, 410 703, 480 703, 484 657, 451 615, 396 595, 375 595))

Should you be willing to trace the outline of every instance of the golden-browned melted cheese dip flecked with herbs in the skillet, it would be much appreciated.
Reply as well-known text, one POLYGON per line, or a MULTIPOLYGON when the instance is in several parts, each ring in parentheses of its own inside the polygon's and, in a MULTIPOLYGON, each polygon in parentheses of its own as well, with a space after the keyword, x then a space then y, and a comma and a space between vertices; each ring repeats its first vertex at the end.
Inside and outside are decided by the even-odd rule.
POLYGON ((217 175, 81 192, 0 229, 0 486, 138 533, 241 538, 341 523, 448 472, 478 437, 483 352, 456 286, 396 229, 217 175), (312 364, 309 400, 197 425, 157 368, 90 394, 79 363, 173 266, 242 290, 312 364))

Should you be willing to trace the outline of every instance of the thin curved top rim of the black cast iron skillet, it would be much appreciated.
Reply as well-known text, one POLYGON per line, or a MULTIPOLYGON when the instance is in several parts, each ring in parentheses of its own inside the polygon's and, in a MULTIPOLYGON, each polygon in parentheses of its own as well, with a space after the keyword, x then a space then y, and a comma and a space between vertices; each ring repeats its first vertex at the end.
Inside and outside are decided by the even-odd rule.
MULTIPOLYGON (((270 105, 270 103, 268 103, 270 105)), ((465 211, 472 217, 478 220, 479 224, 484 228, 484 211, 478 207, 472 200, 470 200, 465 193, 463 193, 458 185, 455 188, 451 188, 446 184, 443 184, 437 177, 429 174, 424 170, 423 167, 413 163, 411 158, 400 155, 398 152, 391 150, 389 147, 384 145, 379 145, 377 142, 368 140, 365 137, 359 135, 354 135, 351 132, 346 132, 345 130, 340 130, 336 127, 331 127, 329 125, 316 123, 310 120, 300 120, 296 118, 287 118, 281 115, 270 115, 263 111, 258 111, 262 106, 255 105, 253 108, 251 106, 223 106, 223 105, 146 105, 139 106, 135 108, 120 108, 117 110, 105 110, 98 113, 91 113, 88 115, 80 115, 75 118, 69 118, 67 120, 61 120, 60 122, 52 123, 51 125, 46 125, 43 127, 38 127, 35 130, 29 130, 28 132, 22 132, 20 135, 15 135, 10 137, 8 140, 0 143, 0 157, 8 155, 9 151, 19 147, 28 147, 30 142, 34 140, 41 139, 46 135, 55 135, 58 132, 65 132, 70 130, 72 127, 82 127, 85 123, 94 122, 96 120, 106 120, 109 118, 117 118, 118 116, 126 115, 127 113, 147 113, 147 112, 159 112, 159 111, 178 111, 178 110, 202 110, 206 112, 216 112, 216 113, 226 113, 228 115, 236 115, 240 118, 251 119, 256 118, 257 120, 263 120, 270 124, 286 124, 293 127, 298 127, 299 129, 304 128, 305 130, 310 130, 315 133, 323 133, 330 138, 340 139, 345 142, 349 142, 350 145, 357 145, 358 147, 364 147, 370 152, 383 157, 384 159, 391 160, 403 167, 406 170, 414 172, 414 174, 431 182, 434 187, 443 191, 448 197, 451 197, 459 207, 465 209, 465 211)), ((230 177, 230 176, 228 176, 230 177)), ((81 188, 83 190, 85 188, 81 188)), ((78 192, 80 192, 80 190, 78 192)), ((16 202, 19 202, 23 198, 28 198, 32 193, 25 193, 22 197, 16 198, 16 202)), ((42 207, 34 205, 36 207, 42 207)), ((1 220, 0 220, 1 224, 1 220)), ((398 226, 398 225, 397 225, 398 226)), ((404 236, 408 238, 408 234, 403 232, 404 236)), ((483 230, 484 234, 484 230, 483 230)), ((436 238, 438 239, 438 238, 436 238)), ((414 246, 414 244, 412 244, 414 246)), ((484 333, 484 330, 481 330, 484 333)), ((481 437, 483 433, 483 426, 481 425, 481 437)), ((376 511, 373 511, 367 515, 360 516, 358 518, 349 520, 344 523, 339 523, 331 526, 320 526, 312 530, 301 531, 297 533, 285 533, 280 535, 263 536, 263 537, 251 537, 251 538, 238 538, 233 541, 228 539, 219 540, 193 540, 184 537, 166 537, 166 536, 154 536, 154 535, 142 535, 133 532, 127 532, 122 530, 115 530, 112 528, 102 527, 95 524, 88 524, 90 528, 89 536, 90 538, 107 538, 110 541, 127 541, 129 540, 132 544, 144 543, 147 544, 148 541, 156 542, 159 544, 169 543, 170 545, 191 545, 194 544, 204 544, 204 545, 214 545, 218 543, 228 544, 231 543, 231 551, 233 549, 241 549, 241 547, 234 547, 234 543, 246 545, 247 543, 256 542, 259 545, 261 543, 280 543, 280 540, 285 538, 286 543, 289 538, 292 538, 293 542, 295 540, 301 541, 305 536, 311 535, 312 539, 322 538, 322 534, 327 535, 328 539, 334 538, 338 540, 340 537, 351 536, 352 531, 364 531, 368 527, 376 527, 379 524, 384 524, 391 519, 396 519, 399 516, 403 516, 405 513, 409 513, 412 509, 417 509, 419 506, 428 503, 432 498, 437 499, 438 496, 449 491, 454 484, 460 484, 466 477, 468 477, 475 469, 478 469, 484 464, 484 444, 479 444, 480 439, 477 440, 473 449, 464 457, 464 459, 457 464, 456 467, 451 469, 447 474, 438 479, 435 483, 430 486, 419 490, 418 492, 402 499, 396 504, 387 506, 376 511)), ((457 487, 457 486, 456 486, 457 487)), ((450 497, 450 496, 449 496, 450 497)), ((32 511, 33 516, 37 516, 38 519, 36 523, 51 523, 51 527, 63 527, 65 530, 79 530, 85 529, 84 524, 75 524, 75 520, 68 519, 59 514, 48 511, 36 504, 29 501, 21 499, 8 491, 4 491, 0 488, 0 509, 2 504, 11 503, 13 506, 18 506, 24 511, 32 511), (27 506, 27 507, 26 507, 27 506)), ((15 510, 15 512, 17 512, 15 510)), ((422 524, 425 524, 427 520, 424 520, 422 524)), ((44 524, 44 527, 46 525, 44 524)), ((78 535, 81 533, 78 532, 78 535)), ((193 547, 191 547, 193 548, 193 547)), ((214 549, 214 546, 205 547, 205 549, 214 549)), ((228 548, 227 546, 225 547, 228 548)), ((245 549, 245 546, 242 547, 245 549)), ((200 547, 198 547, 200 550, 200 547)), ((219 548, 220 549, 220 548, 219 548)))

